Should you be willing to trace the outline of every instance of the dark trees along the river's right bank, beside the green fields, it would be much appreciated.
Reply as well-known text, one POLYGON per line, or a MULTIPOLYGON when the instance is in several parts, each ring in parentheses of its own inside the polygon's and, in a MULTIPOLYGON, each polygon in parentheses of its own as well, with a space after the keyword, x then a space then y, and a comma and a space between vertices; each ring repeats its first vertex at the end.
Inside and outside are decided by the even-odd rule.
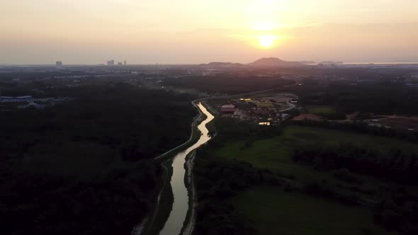
POLYGON ((198 210, 194 234, 254 234, 234 207, 225 202, 239 190, 260 183, 263 173, 242 162, 216 162, 195 159, 195 179, 198 190, 198 210))

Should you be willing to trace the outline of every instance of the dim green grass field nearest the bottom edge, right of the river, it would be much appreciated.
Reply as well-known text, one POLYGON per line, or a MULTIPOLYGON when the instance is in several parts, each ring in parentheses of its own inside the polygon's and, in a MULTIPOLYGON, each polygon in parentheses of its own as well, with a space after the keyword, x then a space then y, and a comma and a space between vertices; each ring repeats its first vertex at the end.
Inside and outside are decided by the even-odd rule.
POLYGON ((261 235, 361 235, 366 234, 364 229, 373 234, 389 234, 373 224, 371 210, 286 193, 281 188, 250 188, 230 202, 261 235))

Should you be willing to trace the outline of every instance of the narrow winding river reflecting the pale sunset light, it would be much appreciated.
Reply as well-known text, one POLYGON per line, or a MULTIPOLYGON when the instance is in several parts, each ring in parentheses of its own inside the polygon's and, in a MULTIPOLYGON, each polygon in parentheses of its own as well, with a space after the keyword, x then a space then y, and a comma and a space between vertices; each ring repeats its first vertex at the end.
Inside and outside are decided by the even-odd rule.
POLYGON ((206 128, 206 124, 208 124, 208 122, 213 120, 215 117, 209 113, 202 103, 198 103, 197 107, 206 115, 206 119, 198 125, 198 130, 201 132, 198 142, 174 156, 172 164, 173 176, 171 176, 171 188, 173 188, 174 195, 173 209, 170 212, 169 219, 167 219, 164 224, 164 228, 159 232, 160 235, 180 234, 188 211, 188 194, 186 185, 184 184, 184 176, 186 174, 184 164, 186 163, 186 156, 194 149, 197 149, 202 144, 208 142, 211 138, 208 135, 209 130, 206 128))

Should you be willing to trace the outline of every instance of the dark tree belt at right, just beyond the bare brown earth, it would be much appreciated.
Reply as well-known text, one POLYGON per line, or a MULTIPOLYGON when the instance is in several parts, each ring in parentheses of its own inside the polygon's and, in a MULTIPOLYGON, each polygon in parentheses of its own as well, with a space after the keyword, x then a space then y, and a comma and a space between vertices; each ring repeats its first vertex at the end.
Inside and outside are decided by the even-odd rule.
POLYGON ((289 87, 300 102, 311 105, 332 105, 338 113, 376 113, 418 115, 418 93, 415 88, 391 81, 321 81, 322 84, 289 87), (357 83, 356 86, 351 85, 357 83))

